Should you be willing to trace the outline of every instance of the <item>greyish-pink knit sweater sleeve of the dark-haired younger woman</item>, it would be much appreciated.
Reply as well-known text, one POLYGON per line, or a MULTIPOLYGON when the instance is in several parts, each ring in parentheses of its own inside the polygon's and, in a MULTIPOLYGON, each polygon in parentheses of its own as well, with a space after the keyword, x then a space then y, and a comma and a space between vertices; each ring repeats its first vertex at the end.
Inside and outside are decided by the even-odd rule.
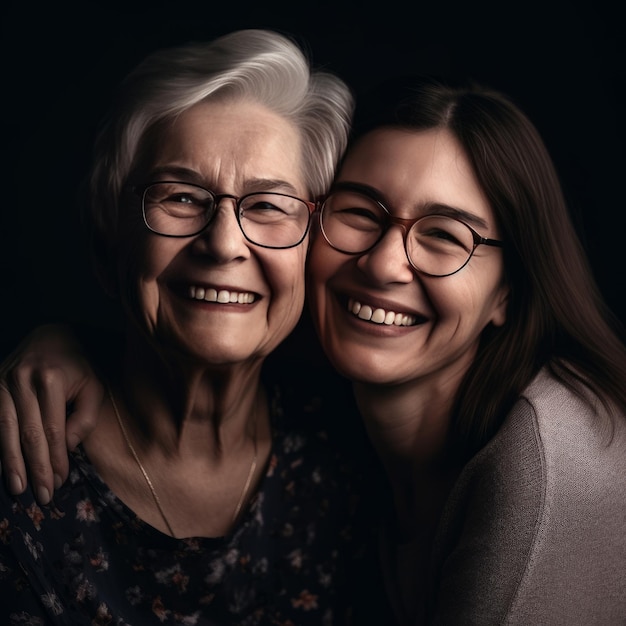
POLYGON ((463 471, 434 624, 626 624, 626 426, 544 375, 463 471))

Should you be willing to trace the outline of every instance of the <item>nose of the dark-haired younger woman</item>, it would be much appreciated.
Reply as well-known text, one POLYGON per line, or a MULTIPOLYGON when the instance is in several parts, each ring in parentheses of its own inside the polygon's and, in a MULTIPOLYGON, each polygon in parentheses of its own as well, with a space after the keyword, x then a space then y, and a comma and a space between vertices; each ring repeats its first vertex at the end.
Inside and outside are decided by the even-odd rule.
POLYGON ((415 272, 406 253, 407 231, 402 224, 393 224, 382 239, 357 261, 360 269, 376 282, 410 283, 415 272))

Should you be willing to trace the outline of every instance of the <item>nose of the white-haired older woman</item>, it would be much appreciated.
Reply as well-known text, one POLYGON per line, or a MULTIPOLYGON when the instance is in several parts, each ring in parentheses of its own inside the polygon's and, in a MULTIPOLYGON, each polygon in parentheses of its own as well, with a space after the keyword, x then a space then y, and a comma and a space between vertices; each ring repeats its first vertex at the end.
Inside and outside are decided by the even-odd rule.
POLYGON ((239 227, 236 211, 234 196, 219 196, 213 219, 193 242, 194 250, 220 263, 248 257, 250 248, 239 227))

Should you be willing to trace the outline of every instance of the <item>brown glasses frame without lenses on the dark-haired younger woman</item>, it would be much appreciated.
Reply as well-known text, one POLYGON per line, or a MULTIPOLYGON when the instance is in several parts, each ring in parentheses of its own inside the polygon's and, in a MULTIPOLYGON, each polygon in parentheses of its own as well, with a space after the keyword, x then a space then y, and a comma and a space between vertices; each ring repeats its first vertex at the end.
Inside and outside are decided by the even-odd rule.
POLYGON ((429 213, 428 215, 420 215, 419 217, 409 217, 409 218, 405 218, 405 217, 394 217, 393 215, 391 215, 391 213, 389 212, 389 209, 380 201, 378 200, 378 198, 376 198, 372 193, 369 193, 367 188, 362 187, 361 185, 358 184, 353 184, 353 183, 338 183, 336 184, 333 189, 331 191, 329 191, 326 196, 320 201, 319 203, 319 224, 320 224, 320 230, 322 231, 322 235, 324 235, 324 239, 326 240, 326 243, 328 243, 328 245, 333 248, 334 250, 337 250, 337 252, 341 252, 342 254, 350 254, 352 256, 358 256, 361 254, 366 254, 367 252, 369 252, 370 250, 373 250, 385 237, 385 235, 389 232, 389 229, 393 226, 393 225, 399 225, 402 226, 402 243, 404 245, 404 253, 406 254, 406 258, 409 261, 409 264, 411 265, 411 267, 416 271, 419 272, 420 274, 425 274, 426 276, 432 276, 434 278, 445 278, 446 276, 452 276, 453 274, 456 274, 457 272, 460 272, 469 262, 470 259, 472 258, 472 256, 474 256, 474 252, 476 251, 476 248, 478 248, 478 246, 493 246, 496 248, 502 248, 504 247, 504 242, 500 241, 499 239, 489 239, 488 237, 483 237, 481 234, 477 233, 469 224, 465 223, 463 220, 460 220, 458 217, 452 217, 450 215, 443 215, 441 213, 429 213), (328 235, 326 235, 326 231, 324 230, 324 206, 326 205, 326 200, 332 196, 332 194, 336 191, 353 191, 355 193, 358 193, 362 196, 365 196, 366 198, 368 198, 369 200, 371 200, 372 202, 374 202, 375 204, 377 204, 385 213, 386 217, 386 223, 383 226, 383 229, 379 235, 379 237, 376 239, 376 241, 369 247, 367 247, 365 250, 361 250, 360 252, 348 252, 346 250, 342 250, 341 248, 339 248, 338 246, 336 246, 335 244, 333 244, 330 239, 328 238, 328 235), (458 269, 454 270, 454 272, 448 272, 447 274, 431 274, 430 272, 426 272, 422 269, 420 269, 419 267, 417 267, 417 265, 415 265, 415 263, 411 260, 411 257, 409 256, 409 251, 407 249, 407 237, 409 235, 409 232, 411 231, 411 228, 413 228, 414 224, 417 224, 417 222, 419 222, 420 220, 423 220, 424 218, 427 217, 433 217, 433 216, 439 216, 439 217, 447 217, 451 220, 455 220, 457 222, 460 222, 461 224, 463 224, 463 226, 465 226, 466 228, 469 229, 469 231, 472 233, 472 238, 474 240, 474 246, 472 247, 471 252, 469 253, 469 256, 467 257, 467 260, 465 261, 465 263, 463 263, 463 265, 461 265, 461 267, 459 267, 458 269))

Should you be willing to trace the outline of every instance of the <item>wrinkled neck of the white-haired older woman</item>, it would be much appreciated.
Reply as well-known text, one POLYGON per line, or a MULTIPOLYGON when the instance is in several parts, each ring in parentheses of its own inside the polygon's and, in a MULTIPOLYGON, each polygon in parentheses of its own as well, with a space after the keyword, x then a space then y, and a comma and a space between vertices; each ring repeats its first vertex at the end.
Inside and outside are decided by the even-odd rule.
POLYGON ((245 444, 259 397, 262 362, 209 367, 177 355, 155 355, 127 343, 113 386, 139 444, 166 454, 221 456, 245 444))

